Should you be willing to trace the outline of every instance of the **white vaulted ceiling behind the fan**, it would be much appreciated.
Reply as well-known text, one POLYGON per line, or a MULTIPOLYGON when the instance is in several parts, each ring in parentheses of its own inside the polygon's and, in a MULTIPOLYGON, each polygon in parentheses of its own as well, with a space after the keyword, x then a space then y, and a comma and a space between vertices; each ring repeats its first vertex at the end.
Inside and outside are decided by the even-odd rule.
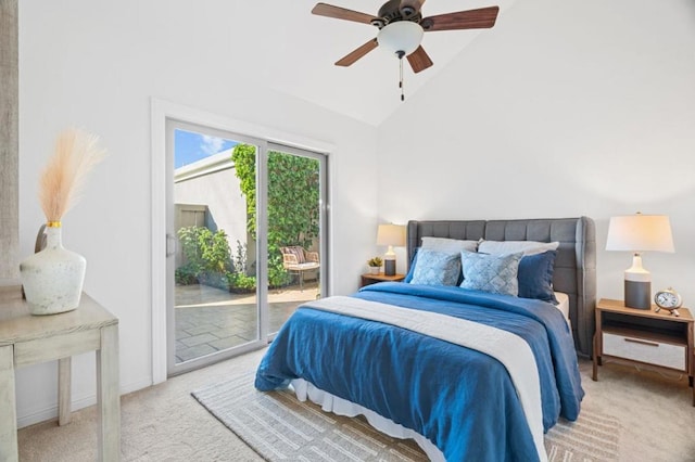
MULTIPOLYGON (((384 0, 386 1, 386 0, 384 0)), ((253 47, 261 62, 253 63, 258 78, 277 91, 378 126, 420 88, 444 69, 480 34, 495 34, 515 0, 428 0, 422 15, 498 5, 495 27, 480 30, 426 33, 422 47, 434 65, 414 74, 404 60, 405 103, 399 89, 399 60, 377 49, 350 67, 333 63, 377 36, 375 26, 317 16, 311 13, 315 0, 238 2, 256 37, 253 47), (268 3, 271 8, 268 9, 268 3)), ((328 0, 326 3, 367 14, 377 14, 381 0, 328 0)), ((235 21, 235 23, 237 23, 235 21)), ((248 36, 247 36, 248 37, 248 36)))

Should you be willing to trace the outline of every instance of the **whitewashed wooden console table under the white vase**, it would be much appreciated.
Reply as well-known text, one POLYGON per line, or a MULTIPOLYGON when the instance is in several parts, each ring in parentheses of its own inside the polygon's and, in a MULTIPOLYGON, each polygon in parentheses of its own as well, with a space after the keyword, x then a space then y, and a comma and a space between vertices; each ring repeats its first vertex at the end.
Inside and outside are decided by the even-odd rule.
POLYGON ((0 287, 0 460, 17 461, 14 370, 58 360, 59 425, 70 423, 71 357, 97 351, 100 461, 121 458, 118 319, 83 294, 73 311, 29 315, 20 287, 0 287))

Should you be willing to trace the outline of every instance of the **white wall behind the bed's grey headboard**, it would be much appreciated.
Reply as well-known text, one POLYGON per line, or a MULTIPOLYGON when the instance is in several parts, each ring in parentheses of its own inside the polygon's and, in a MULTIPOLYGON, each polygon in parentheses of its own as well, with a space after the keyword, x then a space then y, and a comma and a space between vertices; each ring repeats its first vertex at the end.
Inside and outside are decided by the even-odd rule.
POLYGON ((609 217, 667 214, 644 266, 695 307, 695 3, 516 2, 380 127, 379 180, 389 221, 593 217, 599 297, 609 217))

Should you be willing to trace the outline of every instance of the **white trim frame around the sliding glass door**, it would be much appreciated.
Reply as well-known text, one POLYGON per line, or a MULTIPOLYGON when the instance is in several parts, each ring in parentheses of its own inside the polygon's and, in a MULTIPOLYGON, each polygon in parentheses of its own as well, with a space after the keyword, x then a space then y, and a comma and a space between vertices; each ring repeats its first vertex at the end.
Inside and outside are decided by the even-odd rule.
MULTIPOLYGON (((206 111, 152 98, 151 112, 151 290, 152 290, 152 384, 165 382, 167 378, 167 261, 166 261, 166 197, 167 197, 167 164, 166 164, 166 119, 176 119, 193 125, 211 127, 213 129, 243 133, 244 136, 264 140, 267 143, 277 143, 288 147, 319 153, 326 156, 329 165, 330 153, 334 146, 330 143, 318 141, 275 128, 250 124, 229 118, 206 111)), ((327 169, 326 180, 330 183, 331 171, 327 169)), ((329 189, 325 190, 324 210, 326 216, 326 248, 329 248, 329 235, 331 234, 329 189)), ((325 254, 327 257, 329 253, 325 254)), ((324 279, 326 295, 330 294, 331 274, 330 258, 326 258, 327 275, 324 279)), ((323 266, 323 265, 321 265, 323 266)), ((324 274, 323 274, 324 275, 324 274)), ((263 282, 263 281, 262 281, 263 282)), ((242 350, 240 348, 239 350, 242 350)))

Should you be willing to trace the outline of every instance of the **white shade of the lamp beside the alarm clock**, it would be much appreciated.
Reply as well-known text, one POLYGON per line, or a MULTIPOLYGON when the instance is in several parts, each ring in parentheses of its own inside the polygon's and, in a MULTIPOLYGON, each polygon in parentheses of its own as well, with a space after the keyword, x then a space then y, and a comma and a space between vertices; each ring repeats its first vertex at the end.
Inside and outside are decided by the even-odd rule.
POLYGON ((611 217, 606 251, 674 252, 669 217, 642 214, 611 217))

